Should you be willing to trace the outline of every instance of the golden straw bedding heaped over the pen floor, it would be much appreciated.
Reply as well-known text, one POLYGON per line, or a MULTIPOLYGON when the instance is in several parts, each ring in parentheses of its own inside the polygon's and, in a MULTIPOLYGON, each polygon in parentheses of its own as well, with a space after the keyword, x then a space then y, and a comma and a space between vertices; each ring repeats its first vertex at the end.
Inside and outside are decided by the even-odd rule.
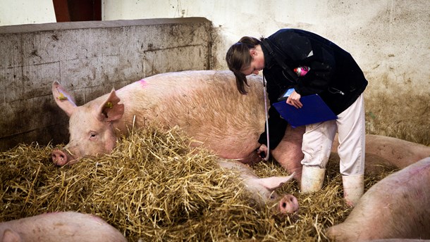
MULTIPOLYGON (((51 145, 0 153, 0 222, 73 210, 102 217, 129 241, 327 241, 324 229, 351 210, 337 162, 329 163, 317 193, 299 193, 295 182, 278 189, 300 204, 294 215, 281 216, 276 204, 250 203, 237 175, 189 143, 178 128, 151 127, 121 138, 109 155, 72 166, 53 165, 51 145)), ((253 168, 260 177, 288 175, 275 162, 253 168)), ((367 177, 366 189, 390 172, 367 177)))

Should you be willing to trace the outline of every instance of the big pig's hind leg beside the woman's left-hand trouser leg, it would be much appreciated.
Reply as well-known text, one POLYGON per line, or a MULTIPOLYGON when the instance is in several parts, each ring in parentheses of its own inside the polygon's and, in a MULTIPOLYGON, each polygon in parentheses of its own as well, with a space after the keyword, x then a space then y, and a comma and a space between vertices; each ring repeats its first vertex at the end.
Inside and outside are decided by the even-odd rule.
POLYGON ((271 154, 276 161, 289 173, 295 172, 294 179, 300 183, 302 179, 302 139, 305 134, 305 126, 291 127, 288 125, 281 143, 276 146, 271 154))

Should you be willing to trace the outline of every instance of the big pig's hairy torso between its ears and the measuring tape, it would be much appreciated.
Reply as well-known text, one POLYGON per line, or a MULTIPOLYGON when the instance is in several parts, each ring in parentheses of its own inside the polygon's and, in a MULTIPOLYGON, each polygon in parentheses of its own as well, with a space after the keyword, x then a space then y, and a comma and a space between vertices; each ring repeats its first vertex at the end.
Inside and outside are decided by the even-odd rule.
POLYGON ((243 158, 259 146, 265 121, 262 77, 250 75, 247 82, 249 93, 242 95, 230 71, 169 72, 130 84, 118 96, 125 124, 136 116, 140 127, 178 125, 195 144, 203 142, 223 158, 243 158))

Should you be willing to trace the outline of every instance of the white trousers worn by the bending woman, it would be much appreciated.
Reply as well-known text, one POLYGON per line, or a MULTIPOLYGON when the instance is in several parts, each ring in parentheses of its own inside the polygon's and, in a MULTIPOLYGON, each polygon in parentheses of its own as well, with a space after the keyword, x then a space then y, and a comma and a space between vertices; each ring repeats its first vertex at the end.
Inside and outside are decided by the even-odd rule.
POLYGON ((302 165, 326 168, 336 131, 339 137, 340 173, 344 176, 364 174, 366 130, 363 94, 340 113, 337 120, 306 125, 302 165))

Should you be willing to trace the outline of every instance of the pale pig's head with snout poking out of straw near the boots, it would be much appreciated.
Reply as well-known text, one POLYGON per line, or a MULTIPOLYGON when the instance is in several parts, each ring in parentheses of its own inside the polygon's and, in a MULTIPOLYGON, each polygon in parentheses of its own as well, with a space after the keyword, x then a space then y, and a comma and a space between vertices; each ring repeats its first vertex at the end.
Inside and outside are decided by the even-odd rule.
MULTIPOLYGON (((249 165, 245 165, 236 160, 220 160, 218 164, 224 170, 230 170, 238 173, 242 179, 247 191, 252 195, 252 199, 259 203, 271 203, 279 199, 275 189, 285 184, 290 179, 293 179, 294 173, 288 177, 266 177, 260 178, 252 171, 249 165)), ((295 196, 286 194, 278 202, 276 211, 281 214, 289 214, 296 212, 299 209, 299 204, 295 196)))

